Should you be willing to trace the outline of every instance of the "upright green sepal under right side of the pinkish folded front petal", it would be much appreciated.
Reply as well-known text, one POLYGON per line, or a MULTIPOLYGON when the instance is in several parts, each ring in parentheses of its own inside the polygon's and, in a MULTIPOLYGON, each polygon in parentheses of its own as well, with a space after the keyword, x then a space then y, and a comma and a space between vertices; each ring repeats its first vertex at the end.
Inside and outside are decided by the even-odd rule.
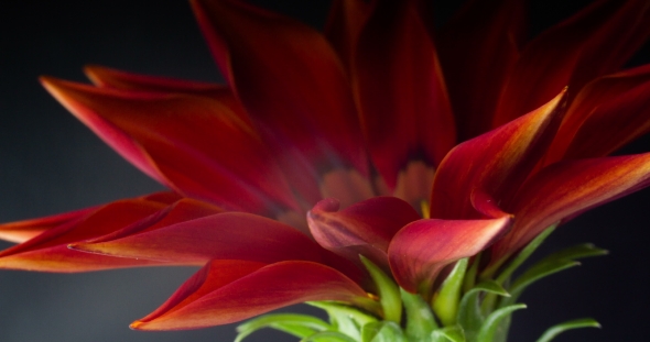
POLYGON ((467 258, 459 260, 434 296, 432 308, 445 327, 456 324, 461 288, 467 271, 467 258))

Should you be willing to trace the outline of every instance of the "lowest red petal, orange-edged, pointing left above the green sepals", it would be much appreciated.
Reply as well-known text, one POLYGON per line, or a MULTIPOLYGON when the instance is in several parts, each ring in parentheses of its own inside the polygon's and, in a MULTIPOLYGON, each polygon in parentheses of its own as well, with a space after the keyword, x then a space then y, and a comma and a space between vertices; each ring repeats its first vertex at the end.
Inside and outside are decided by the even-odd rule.
POLYGON ((161 308, 133 322, 131 328, 196 329, 241 321, 310 300, 367 300, 358 285, 321 264, 282 262, 261 266, 250 262, 212 262, 161 308))

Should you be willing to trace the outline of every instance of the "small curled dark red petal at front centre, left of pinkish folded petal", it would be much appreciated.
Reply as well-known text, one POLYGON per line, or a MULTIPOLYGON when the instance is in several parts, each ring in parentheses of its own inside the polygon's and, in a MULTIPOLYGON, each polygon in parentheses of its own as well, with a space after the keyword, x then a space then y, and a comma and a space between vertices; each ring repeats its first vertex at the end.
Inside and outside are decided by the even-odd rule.
POLYGON ((324 199, 307 212, 310 230, 318 244, 354 262, 359 262, 361 253, 386 268, 392 236, 419 219, 409 203, 396 197, 375 197, 342 211, 337 200, 324 199))

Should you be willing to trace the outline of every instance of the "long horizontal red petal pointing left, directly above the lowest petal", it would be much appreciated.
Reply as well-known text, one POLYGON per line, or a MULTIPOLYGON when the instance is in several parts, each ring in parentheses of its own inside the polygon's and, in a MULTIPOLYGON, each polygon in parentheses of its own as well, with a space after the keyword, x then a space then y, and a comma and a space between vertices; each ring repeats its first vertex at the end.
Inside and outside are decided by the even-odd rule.
POLYGON ((163 221, 149 229, 126 228, 71 247, 104 255, 192 264, 209 260, 322 262, 325 252, 292 227, 245 212, 163 221))

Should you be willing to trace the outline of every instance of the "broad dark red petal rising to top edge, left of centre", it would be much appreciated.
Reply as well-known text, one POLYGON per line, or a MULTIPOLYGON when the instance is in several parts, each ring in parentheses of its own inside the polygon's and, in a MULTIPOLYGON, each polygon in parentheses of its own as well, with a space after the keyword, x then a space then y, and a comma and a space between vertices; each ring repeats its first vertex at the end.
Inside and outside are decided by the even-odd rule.
POLYGON ((192 2, 219 67, 308 201, 318 173, 367 174, 344 67, 325 37, 289 18, 229 0, 192 2))

